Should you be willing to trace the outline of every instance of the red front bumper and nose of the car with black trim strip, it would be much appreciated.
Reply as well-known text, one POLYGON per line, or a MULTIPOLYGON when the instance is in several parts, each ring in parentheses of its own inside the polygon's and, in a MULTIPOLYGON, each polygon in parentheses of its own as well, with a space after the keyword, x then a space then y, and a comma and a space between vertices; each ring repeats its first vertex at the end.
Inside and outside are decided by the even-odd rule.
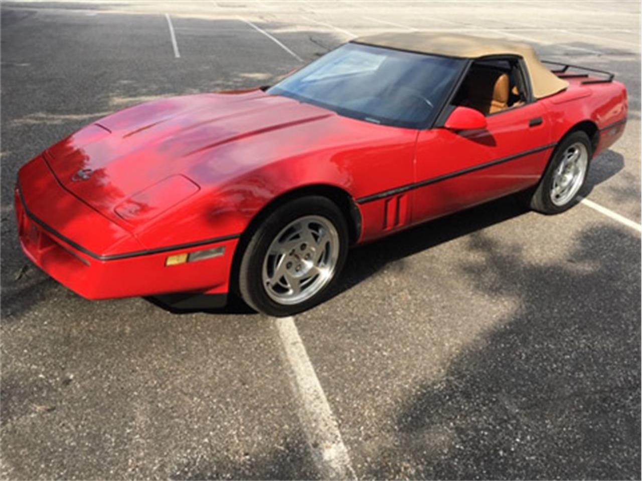
POLYGON ((73 234, 78 232, 78 226, 74 227, 68 219, 61 223, 61 216, 53 214, 56 208, 50 207, 58 205, 69 208, 73 203, 78 212, 74 220, 79 215, 84 216, 87 229, 93 230, 94 237, 101 237, 101 234, 108 237, 116 226, 105 222, 106 219, 100 214, 81 205, 80 200, 57 187, 39 189, 39 192, 30 192, 31 195, 21 192, 20 186, 16 187, 15 212, 19 239, 22 250, 34 264, 80 296, 108 299, 172 292, 225 294, 229 290, 229 275, 238 236, 102 255, 76 242, 73 234), (41 205, 48 208, 41 208, 41 205), (84 208, 88 209, 87 212, 80 211, 84 208), (38 215, 40 211, 51 219, 38 215), (170 255, 213 248, 224 248, 223 255, 176 266, 165 265, 170 255))

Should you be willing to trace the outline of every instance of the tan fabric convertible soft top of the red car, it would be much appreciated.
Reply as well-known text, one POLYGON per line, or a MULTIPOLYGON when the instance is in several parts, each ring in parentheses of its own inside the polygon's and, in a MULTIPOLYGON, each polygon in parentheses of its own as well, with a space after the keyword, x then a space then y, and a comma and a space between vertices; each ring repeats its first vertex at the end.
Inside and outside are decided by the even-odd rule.
POLYGON ((459 58, 480 58, 489 55, 518 55, 526 62, 533 95, 541 99, 568 87, 566 80, 560 79, 548 70, 537 58, 528 44, 506 42, 494 38, 472 37, 471 35, 435 34, 428 32, 379 33, 352 40, 359 44, 388 47, 419 53, 431 53, 459 58))

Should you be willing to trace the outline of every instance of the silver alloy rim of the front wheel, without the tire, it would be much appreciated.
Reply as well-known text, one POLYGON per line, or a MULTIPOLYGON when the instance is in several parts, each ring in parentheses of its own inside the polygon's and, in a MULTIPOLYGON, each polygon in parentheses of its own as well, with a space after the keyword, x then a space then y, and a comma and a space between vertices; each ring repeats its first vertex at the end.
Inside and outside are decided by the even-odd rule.
POLYGON ((285 305, 306 301, 334 276, 339 235, 325 217, 306 215, 291 222, 270 244, 263 260, 263 286, 285 305))

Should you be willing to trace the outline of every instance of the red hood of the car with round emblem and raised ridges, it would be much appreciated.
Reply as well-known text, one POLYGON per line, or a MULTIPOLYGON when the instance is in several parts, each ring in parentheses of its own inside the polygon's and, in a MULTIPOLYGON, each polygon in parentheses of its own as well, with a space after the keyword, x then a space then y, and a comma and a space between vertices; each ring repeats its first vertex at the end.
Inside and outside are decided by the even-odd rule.
POLYGON ((212 162, 215 149, 333 116, 262 90, 170 97, 100 119, 49 148, 46 159, 76 197, 139 223, 198 192, 198 180, 184 173, 208 154, 212 162))

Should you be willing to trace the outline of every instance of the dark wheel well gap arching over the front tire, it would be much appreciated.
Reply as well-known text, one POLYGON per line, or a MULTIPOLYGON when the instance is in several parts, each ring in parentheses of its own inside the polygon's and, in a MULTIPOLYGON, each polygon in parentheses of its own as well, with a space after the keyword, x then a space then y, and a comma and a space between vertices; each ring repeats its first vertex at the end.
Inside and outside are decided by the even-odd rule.
POLYGON ((263 220, 272 214, 274 210, 281 207, 282 205, 292 201, 293 199, 298 199, 306 196, 322 196, 333 201, 336 206, 341 210, 345 217, 345 221, 348 224, 348 236, 350 240, 350 245, 356 244, 361 235, 361 211, 356 205, 354 198, 346 190, 336 187, 329 184, 312 184, 304 185, 302 187, 297 187, 287 192, 283 192, 279 196, 273 198, 265 206, 257 212, 256 215, 252 218, 247 228, 241 233, 241 237, 236 246, 236 251, 234 252, 234 258, 232 260, 232 268, 230 271, 230 288, 234 291, 236 289, 236 283, 238 281, 238 269, 241 264, 241 258, 245 252, 245 248, 249 243, 252 233, 256 231, 258 226, 263 222, 263 220))

